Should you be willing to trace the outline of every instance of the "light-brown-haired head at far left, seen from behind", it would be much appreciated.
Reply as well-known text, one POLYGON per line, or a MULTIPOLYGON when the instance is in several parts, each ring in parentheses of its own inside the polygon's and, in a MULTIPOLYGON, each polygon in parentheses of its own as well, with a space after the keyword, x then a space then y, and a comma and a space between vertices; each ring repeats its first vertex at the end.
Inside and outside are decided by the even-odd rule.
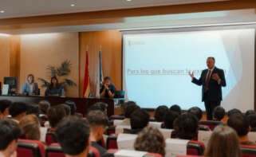
POLYGON ((26 115, 19 123, 22 128, 21 139, 40 140, 40 122, 35 115, 26 115))

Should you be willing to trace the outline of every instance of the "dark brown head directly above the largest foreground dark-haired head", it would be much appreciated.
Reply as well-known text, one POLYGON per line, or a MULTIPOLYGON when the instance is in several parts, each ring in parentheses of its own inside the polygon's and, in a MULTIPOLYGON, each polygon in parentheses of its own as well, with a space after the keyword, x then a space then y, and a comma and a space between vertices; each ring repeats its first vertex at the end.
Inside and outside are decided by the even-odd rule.
POLYGON ((52 106, 47 111, 47 117, 51 128, 56 128, 57 124, 66 116, 65 109, 60 105, 52 106))

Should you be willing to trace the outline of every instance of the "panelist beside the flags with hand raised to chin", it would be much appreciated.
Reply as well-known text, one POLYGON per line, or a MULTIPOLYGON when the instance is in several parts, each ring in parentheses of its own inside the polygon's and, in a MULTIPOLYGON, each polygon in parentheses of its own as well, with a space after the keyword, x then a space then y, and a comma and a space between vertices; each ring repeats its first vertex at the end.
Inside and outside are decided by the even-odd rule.
POLYGON ((116 87, 111 83, 110 77, 104 77, 104 81, 100 88, 100 97, 113 98, 115 92, 116 87))

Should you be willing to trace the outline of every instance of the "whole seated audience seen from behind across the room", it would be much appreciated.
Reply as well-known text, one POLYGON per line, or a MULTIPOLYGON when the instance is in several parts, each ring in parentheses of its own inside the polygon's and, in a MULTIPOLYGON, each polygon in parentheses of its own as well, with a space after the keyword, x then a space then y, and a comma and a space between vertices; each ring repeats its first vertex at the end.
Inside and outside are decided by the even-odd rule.
MULTIPOLYGON (((96 103, 89 108, 86 118, 82 118, 76 113, 76 105, 71 101, 50 106, 45 100, 38 105, 0 100, 0 156, 15 156, 18 139, 41 140, 41 128, 54 131, 66 156, 87 156, 89 147, 95 147, 100 156, 107 156, 107 150, 100 144, 109 126, 107 107, 107 104, 96 103), (7 118, 9 115, 10 119, 7 118)), ((120 125, 130 126, 130 129, 124 129, 124 133, 138 135, 134 149, 165 156, 165 139, 158 128, 149 126, 151 118, 148 112, 133 101, 122 104, 121 110, 124 120, 120 125)), ((162 128, 173 129, 171 135, 175 138, 189 140, 198 139, 202 116, 200 108, 182 111, 179 105, 171 108, 162 105, 155 112, 155 120, 162 123, 162 128)), ((224 108, 215 108, 214 120, 223 120, 224 116, 224 108)), ((239 144, 256 146, 255 141, 248 139, 248 132, 256 128, 256 113, 249 110, 242 114, 238 109, 232 109, 227 112, 227 116, 227 123, 223 122, 212 132, 204 155, 240 157, 239 144)))

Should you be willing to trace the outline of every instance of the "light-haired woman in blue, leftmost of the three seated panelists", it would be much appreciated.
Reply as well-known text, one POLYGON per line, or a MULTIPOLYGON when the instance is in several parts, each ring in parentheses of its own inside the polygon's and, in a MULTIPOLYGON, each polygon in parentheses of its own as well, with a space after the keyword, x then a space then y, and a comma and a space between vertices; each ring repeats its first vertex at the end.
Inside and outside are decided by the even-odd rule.
POLYGON ((38 85, 34 82, 33 74, 29 74, 26 83, 23 84, 22 94, 33 96, 39 95, 38 85))

